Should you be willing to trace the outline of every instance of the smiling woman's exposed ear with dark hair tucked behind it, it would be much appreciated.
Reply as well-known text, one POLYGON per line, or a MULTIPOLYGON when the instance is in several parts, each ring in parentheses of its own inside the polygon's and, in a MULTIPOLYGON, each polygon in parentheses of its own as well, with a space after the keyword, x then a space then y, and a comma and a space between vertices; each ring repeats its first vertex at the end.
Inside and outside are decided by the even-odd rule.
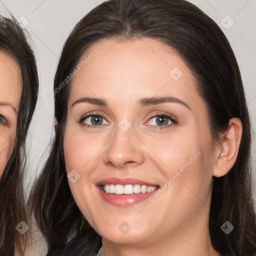
POLYGON ((220 145, 215 150, 213 176, 221 177, 232 168, 237 158, 241 135, 242 122, 239 118, 232 117, 229 120, 227 132, 220 135, 220 145))

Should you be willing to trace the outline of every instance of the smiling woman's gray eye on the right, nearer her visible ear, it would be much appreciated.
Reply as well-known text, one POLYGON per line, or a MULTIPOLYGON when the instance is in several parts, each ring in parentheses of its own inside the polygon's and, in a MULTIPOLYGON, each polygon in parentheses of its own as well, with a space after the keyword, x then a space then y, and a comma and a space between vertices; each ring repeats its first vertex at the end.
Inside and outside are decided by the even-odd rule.
POLYGON ((172 115, 168 113, 159 113, 151 115, 149 121, 151 121, 151 126, 155 126, 154 128, 167 128, 173 124, 177 124, 177 118, 172 117, 172 115))

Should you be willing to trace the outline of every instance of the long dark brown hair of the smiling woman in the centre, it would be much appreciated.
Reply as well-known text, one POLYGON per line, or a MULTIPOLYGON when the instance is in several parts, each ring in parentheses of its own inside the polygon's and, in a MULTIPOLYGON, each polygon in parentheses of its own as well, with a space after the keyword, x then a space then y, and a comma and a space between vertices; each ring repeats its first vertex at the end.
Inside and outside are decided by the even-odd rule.
MULTIPOLYGON (((54 89, 72 72, 93 43, 113 38, 150 37, 175 49, 197 80, 214 141, 238 117, 243 133, 236 162, 222 177, 213 177, 209 213, 212 246, 221 254, 256 255, 256 226, 251 192, 251 124, 239 67, 224 33, 203 11, 185 0, 108 0, 86 14, 73 28, 62 49, 54 89), (235 227, 228 235, 221 225, 235 227)), ((50 155, 35 183, 30 201, 49 249, 63 246, 70 236, 84 239, 86 255, 101 246, 100 236, 79 211, 70 192, 63 154, 67 101, 72 80, 55 94, 58 122, 50 155), (45 185, 46 184, 46 185, 45 185)))

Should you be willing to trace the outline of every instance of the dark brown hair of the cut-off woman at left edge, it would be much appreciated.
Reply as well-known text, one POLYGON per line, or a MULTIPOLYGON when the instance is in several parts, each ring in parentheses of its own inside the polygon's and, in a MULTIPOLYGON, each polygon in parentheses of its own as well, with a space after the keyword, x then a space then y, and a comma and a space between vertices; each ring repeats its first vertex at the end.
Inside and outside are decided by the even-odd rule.
POLYGON ((16 225, 29 223, 23 191, 25 138, 35 108, 38 93, 36 61, 26 34, 14 17, 0 16, 0 51, 9 54, 18 64, 22 77, 22 93, 17 114, 14 148, 0 179, 0 255, 23 255, 26 233, 16 225))

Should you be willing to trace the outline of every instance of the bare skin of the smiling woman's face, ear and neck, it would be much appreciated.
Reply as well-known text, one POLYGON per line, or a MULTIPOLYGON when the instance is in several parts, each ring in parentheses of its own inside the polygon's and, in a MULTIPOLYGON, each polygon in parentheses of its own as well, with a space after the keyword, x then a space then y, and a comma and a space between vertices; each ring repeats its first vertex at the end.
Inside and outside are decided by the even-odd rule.
POLYGON ((72 81, 64 154, 67 173, 75 169, 80 175, 74 183, 68 180, 71 192, 102 236, 105 256, 220 255, 211 246, 208 230, 212 176, 226 174, 234 164, 240 120, 230 120, 229 132, 220 134, 221 142, 214 147, 196 80, 174 50, 151 38, 108 39, 93 44, 81 59, 94 48, 98 54, 72 81), (182 71, 177 80, 169 75, 174 67, 182 71), (143 107, 137 103, 152 96, 176 97, 190 109, 175 102, 143 107), (81 97, 104 98, 108 106, 71 106, 81 97), (87 117, 83 123, 90 128, 82 126, 79 119, 94 111, 103 117, 102 125, 93 128, 87 117), (160 113, 174 115, 178 124, 169 120, 171 125, 160 129, 156 117, 150 119, 160 113), (123 118, 131 124, 127 131, 118 126, 123 118), (161 187, 196 152, 200 155, 153 202, 114 206, 95 186, 103 178, 135 177, 161 187), (118 228, 123 221, 130 225, 125 234, 118 228))

